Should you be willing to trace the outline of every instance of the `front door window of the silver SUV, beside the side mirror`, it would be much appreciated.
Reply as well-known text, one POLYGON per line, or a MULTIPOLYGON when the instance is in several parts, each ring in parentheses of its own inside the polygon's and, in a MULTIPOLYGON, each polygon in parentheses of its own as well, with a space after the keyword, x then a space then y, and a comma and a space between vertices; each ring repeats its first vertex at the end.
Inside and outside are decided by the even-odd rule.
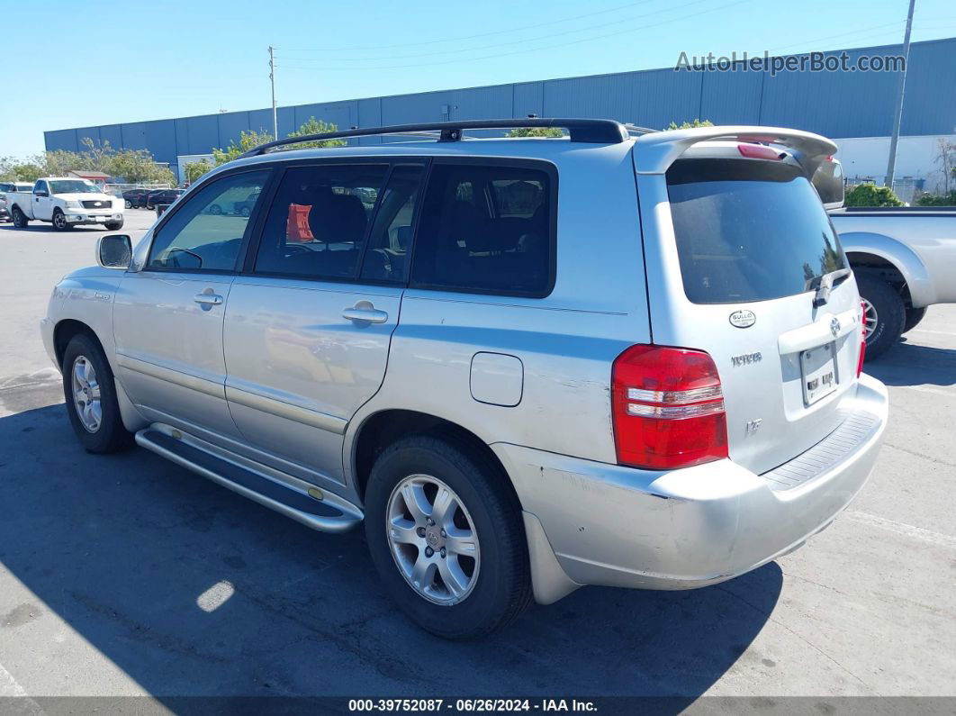
POLYGON ((250 193, 262 191, 268 171, 233 174, 190 197, 153 239, 150 269, 232 271, 250 230, 244 208, 250 193))

